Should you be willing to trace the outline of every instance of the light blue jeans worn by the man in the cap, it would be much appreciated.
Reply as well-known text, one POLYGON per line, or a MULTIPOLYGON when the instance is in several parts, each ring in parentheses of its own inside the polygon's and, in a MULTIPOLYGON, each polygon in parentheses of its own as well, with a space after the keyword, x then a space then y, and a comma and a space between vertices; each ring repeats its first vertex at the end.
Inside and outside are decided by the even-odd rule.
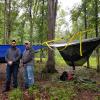
POLYGON ((25 87, 27 88, 34 84, 34 74, 32 65, 26 65, 24 67, 24 80, 25 87))

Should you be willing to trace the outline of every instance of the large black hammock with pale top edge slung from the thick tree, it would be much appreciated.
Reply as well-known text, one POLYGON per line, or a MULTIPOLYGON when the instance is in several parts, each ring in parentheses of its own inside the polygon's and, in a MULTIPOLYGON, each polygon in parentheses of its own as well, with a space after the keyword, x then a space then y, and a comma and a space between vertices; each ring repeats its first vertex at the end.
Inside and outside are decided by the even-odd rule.
POLYGON ((100 38, 84 39, 82 41, 82 56, 80 56, 80 42, 73 42, 65 49, 66 44, 54 44, 52 47, 56 47, 65 62, 73 66, 82 66, 90 57, 93 50, 100 44, 100 38))

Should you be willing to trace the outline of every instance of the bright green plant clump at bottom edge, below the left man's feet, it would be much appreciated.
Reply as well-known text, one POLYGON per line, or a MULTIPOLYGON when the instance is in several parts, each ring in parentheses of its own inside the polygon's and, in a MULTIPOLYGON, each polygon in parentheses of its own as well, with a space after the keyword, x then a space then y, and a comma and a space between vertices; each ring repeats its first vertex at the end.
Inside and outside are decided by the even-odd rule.
POLYGON ((9 100, 23 100, 23 92, 17 88, 9 93, 9 100))

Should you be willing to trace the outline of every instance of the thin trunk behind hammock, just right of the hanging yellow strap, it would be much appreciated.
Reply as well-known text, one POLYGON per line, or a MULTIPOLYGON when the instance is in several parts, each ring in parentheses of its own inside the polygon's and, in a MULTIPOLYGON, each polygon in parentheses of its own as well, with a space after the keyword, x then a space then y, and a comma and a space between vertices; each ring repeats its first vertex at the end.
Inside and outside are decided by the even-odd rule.
MULTIPOLYGON (((87 10, 86 10, 86 0, 84 0, 84 25, 85 25, 85 30, 87 30, 87 10)), ((87 32, 85 32, 85 39, 87 39, 87 32)), ((87 57, 87 68, 90 67, 90 64, 89 64, 89 59, 87 57)))

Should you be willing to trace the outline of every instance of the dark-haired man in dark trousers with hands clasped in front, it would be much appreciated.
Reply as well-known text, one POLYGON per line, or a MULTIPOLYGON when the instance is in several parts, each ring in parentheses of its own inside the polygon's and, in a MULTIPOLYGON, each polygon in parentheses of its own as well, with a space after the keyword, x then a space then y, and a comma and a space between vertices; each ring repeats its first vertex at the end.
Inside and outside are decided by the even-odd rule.
POLYGON ((12 40, 11 47, 7 50, 5 60, 7 62, 6 68, 6 84, 3 92, 6 92, 10 89, 11 76, 13 75, 13 87, 17 88, 17 74, 18 67, 20 62, 21 52, 16 47, 16 41, 12 40))

